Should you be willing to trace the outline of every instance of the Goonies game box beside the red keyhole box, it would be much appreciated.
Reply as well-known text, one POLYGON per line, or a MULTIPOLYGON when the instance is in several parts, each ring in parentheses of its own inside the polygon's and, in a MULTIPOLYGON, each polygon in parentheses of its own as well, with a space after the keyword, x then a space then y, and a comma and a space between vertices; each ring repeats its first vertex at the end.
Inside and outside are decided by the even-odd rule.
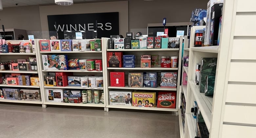
POLYGON ((143 72, 128 72, 128 87, 143 87, 143 72))

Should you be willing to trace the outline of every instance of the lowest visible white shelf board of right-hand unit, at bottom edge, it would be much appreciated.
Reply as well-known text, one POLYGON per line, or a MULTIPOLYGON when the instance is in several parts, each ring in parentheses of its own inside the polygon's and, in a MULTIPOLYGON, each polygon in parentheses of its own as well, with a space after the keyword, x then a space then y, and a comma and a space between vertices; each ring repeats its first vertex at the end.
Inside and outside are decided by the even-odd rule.
POLYGON ((196 119, 193 118, 192 113, 186 114, 186 119, 189 136, 190 138, 194 138, 196 136, 196 119))

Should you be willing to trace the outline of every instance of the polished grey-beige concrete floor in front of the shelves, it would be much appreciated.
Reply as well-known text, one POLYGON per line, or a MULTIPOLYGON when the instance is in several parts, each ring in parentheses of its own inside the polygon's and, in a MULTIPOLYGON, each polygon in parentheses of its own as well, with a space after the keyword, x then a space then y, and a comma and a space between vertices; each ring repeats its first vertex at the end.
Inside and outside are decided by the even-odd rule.
POLYGON ((179 118, 137 110, 0 104, 0 138, 179 138, 179 118))

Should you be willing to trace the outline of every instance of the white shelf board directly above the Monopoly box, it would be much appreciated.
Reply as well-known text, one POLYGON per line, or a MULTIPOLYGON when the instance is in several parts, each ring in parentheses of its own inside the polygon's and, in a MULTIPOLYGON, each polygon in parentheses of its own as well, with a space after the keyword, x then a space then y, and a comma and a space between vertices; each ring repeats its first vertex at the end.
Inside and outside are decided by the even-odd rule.
POLYGON ((158 86, 157 88, 150 88, 150 87, 137 88, 137 87, 128 87, 128 85, 126 85, 125 87, 112 87, 112 86, 109 86, 108 89, 142 89, 142 90, 169 90, 169 91, 177 91, 177 88, 161 88, 160 86, 158 86))

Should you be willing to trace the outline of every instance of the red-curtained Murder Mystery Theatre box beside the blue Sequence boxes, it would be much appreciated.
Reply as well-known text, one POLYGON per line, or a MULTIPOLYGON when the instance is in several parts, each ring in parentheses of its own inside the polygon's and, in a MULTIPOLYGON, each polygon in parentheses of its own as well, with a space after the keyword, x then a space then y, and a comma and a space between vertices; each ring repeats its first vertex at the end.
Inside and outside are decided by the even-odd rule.
POLYGON ((122 68, 123 52, 107 52, 107 67, 122 68))

